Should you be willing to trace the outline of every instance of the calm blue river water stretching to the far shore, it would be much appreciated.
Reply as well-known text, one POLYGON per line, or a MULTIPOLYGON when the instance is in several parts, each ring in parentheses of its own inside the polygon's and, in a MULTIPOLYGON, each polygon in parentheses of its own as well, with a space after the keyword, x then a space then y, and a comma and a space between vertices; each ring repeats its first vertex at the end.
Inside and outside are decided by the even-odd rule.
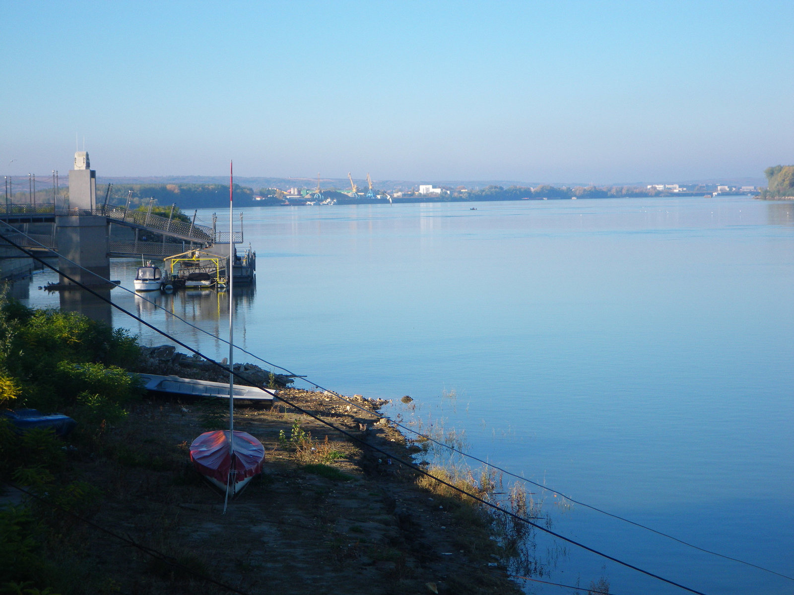
MULTIPOLYGON (((553 491, 794 576, 794 204, 470 206, 243 209, 258 274, 235 297, 236 342, 333 390, 395 399, 391 415, 464 431, 473 454, 549 486, 535 497, 572 539, 704 593, 794 593, 784 578, 555 505, 553 491), (405 394, 416 409, 397 401, 405 394)), ((132 288, 137 263, 113 267, 132 288)), ((58 305, 33 287, 31 304, 58 305)), ((112 295, 208 355, 228 353, 112 295)), ((147 297, 228 333, 225 294, 147 297)), ((613 593, 682 593, 538 536, 547 551, 551 581, 586 587, 603 574, 613 593)))

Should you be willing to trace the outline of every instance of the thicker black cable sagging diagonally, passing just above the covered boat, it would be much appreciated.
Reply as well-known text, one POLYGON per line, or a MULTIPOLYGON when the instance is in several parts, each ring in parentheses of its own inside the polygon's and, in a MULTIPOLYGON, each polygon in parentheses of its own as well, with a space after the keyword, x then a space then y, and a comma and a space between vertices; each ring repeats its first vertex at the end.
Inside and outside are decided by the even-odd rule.
MULTIPOLYGON (((33 253, 31 253, 29 251, 26 251, 25 248, 22 248, 19 244, 17 244, 13 240, 10 240, 10 239, 6 238, 2 234, 0 234, 0 240, 5 240, 9 244, 13 245, 15 248, 23 251, 25 254, 29 255, 31 258, 33 258, 33 259, 37 260, 38 262, 40 262, 41 264, 43 264, 45 267, 48 267, 48 268, 52 269, 52 271, 56 271, 61 276, 63 276, 67 280, 71 281, 75 285, 82 287, 83 290, 86 290, 88 293, 94 295, 94 297, 99 298, 102 301, 106 301, 108 304, 110 304, 114 308, 120 310, 122 313, 127 314, 129 317, 133 317, 135 320, 141 322, 141 324, 145 324, 149 328, 152 328, 152 330, 160 333, 160 335, 165 336, 168 339, 172 340, 175 344, 181 345, 182 347, 185 347, 185 349, 195 353, 195 355, 198 355, 198 356, 206 359, 208 362, 212 363, 214 366, 220 368, 221 370, 224 370, 225 372, 228 372, 229 374, 232 374, 235 378, 240 378, 244 382, 251 382, 248 378, 245 378, 245 376, 243 376, 242 374, 239 374, 238 372, 235 372, 233 370, 233 367, 224 366, 222 363, 218 363, 214 359, 210 359, 206 355, 202 354, 200 351, 194 349, 193 347, 190 347, 187 344, 184 344, 182 341, 180 341, 180 340, 176 339, 175 337, 169 335, 167 332, 162 331, 159 328, 156 328, 153 324, 150 324, 150 323, 144 321, 141 317, 136 316, 135 314, 133 314, 133 313, 129 312, 128 310, 122 308, 118 304, 114 304, 113 301, 110 301, 109 299, 104 298, 102 295, 100 295, 97 292, 95 292, 94 290, 92 290, 91 287, 83 285, 83 283, 78 282, 74 278, 71 278, 69 275, 64 274, 61 271, 59 271, 57 267, 53 267, 50 263, 45 263, 44 259, 40 259, 37 255, 33 255, 33 253)), ((230 396, 229 398, 233 398, 233 397, 230 396)), ((623 562, 621 559, 617 559, 614 556, 605 554, 603 551, 596 550, 593 547, 586 546, 586 545, 584 545, 584 543, 580 543, 580 542, 576 541, 575 539, 571 539, 569 537, 565 537, 565 536, 561 535, 560 533, 553 532, 551 529, 545 528, 545 527, 543 527, 542 525, 540 525, 538 523, 532 522, 532 520, 530 520, 526 516, 521 516, 521 515, 516 514, 515 512, 511 512, 511 511, 509 511, 507 509, 503 509, 501 506, 495 505, 491 501, 487 501, 484 498, 482 498, 480 496, 477 496, 476 494, 469 493, 466 490, 459 488, 458 486, 454 486, 450 482, 446 482, 445 480, 443 480, 441 478, 437 478, 434 474, 431 474, 430 472, 422 469, 421 467, 414 465, 414 463, 410 463, 410 462, 406 461, 405 459, 401 459, 398 456, 395 456, 395 455, 393 455, 393 454, 391 454, 391 453, 389 453, 387 451, 384 451, 380 447, 376 447, 376 446, 374 446, 372 444, 367 443, 365 440, 362 440, 359 436, 354 436, 353 434, 351 434, 347 430, 344 430, 342 428, 337 427, 336 425, 332 424, 330 421, 322 419, 322 417, 319 417, 318 415, 315 415, 314 413, 311 413, 310 411, 308 411, 306 409, 303 409, 303 407, 300 407, 299 405, 297 405, 297 404, 295 404, 295 403, 293 403, 291 401, 288 401, 284 397, 280 397, 279 396, 279 399, 281 401, 283 401, 284 403, 286 403, 287 405, 290 405, 293 409, 296 409, 300 413, 303 413, 307 417, 311 417, 312 419, 317 420, 321 424, 324 424, 324 425, 328 426, 329 428, 333 429, 334 431, 341 433, 343 436, 346 436, 349 440, 351 440, 353 442, 360 443, 363 447, 369 448, 372 451, 379 452, 381 455, 384 455, 386 457, 391 458, 392 460, 395 460, 397 463, 402 464, 403 466, 407 467, 408 469, 414 470, 414 472, 416 472, 418 474, 422 474, 425 477, 433 479, 435 482, 441 483, 442 485, 447 486, 450 489, 453 489, 454 491, 456 491, 458 493, 461 493, 461 494, 463 494, 466 497, 472 498, 472 500, 478 501, 478 502, 480 502, 480 504, 488 506, 488 508, 490 508, 490 509, 493 509, 493 510, 495 510, 497 512, 501 512, 504 515, 509 516, 509 517, 511 517, 511 518, 513 518, 515 520, 518 520, 518 521, 520 521, 522 523, 529 524, 531 527, 537 528, 540 531, 549 534, 550 536, 557 537, 557 539, 562 539, 563 541, 571 543, 572 545, 575 545, 577 547, 581 547, 582 549, 590 551, 590 552, 592 552, 595 555, 599 555, 599 556, 601 556, 601 557, 603 557, 603 558, 605 558, 607 560, 611 560, 612 562, 616 562, 616 563, 620 564, 621 566, 626 566, 626 568, 630 568, 631 570, 636 570, 639 573, 646 574, 647 576, 649 576, 651 578, 656 578, 657 580, 660 580, 661 582, 666 582, 669 585, 673 585, 673 586, 676 586, 676 587, 678 587, 680 589, 684 589, 685 591, 689 591, 690 593, 696 593, 696 595, 706 595, 705 593, 702 593, 701 591, 697 591, 696 589, 691 589, 688 586, 681 585, 680 583, 672 581, 669 578, 664 578, 664 577, 662 577, 662 576, 660 576, 658 574, 653 574, 649 570, 643 570, 639 566, 634 566, 633 564, 630 564, 629 562, 623 562)))

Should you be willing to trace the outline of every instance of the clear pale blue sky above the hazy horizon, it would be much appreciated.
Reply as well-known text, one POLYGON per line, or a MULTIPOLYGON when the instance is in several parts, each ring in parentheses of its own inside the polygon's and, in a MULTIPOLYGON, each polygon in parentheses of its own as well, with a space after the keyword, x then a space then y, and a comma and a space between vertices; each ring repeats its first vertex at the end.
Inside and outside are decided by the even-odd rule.
POLYGON ((0 8, 0 174, 676 183, 794 163, 794 2, 0 8), (75 146, 76 139, 76 146, 75 146))

